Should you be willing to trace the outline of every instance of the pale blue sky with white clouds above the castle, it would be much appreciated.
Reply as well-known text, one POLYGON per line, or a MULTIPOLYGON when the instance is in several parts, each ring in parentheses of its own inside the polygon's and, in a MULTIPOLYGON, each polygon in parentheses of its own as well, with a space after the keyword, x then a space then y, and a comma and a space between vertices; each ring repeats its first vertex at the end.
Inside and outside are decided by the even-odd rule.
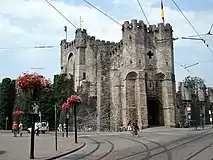
MULTIPOLYGON (((49 0, 75 26, 82 27, 97 39, 120 41, 121 27, 89 6, 83 0, 49 0)), ((123 23, 126 20, 145 21, 137 0, 88 0, 105 13, 123 23)), ((140 0, 150 24, 161 23, 160 0, 140 0)), ((175 1, 198 33, 207 33, 213 24, 213 0, 175 1)), ((173 26, 174 37, 196 35, 172 0, 164 0, 165 21, 173 26)), ((16 78, 23 72, 38 72, 48 78, 60 73, 60 41, 72 41, 75 29, 45 0, 0 0, 0 79, 16 78), (35 46, 54 46, 38 49, 35 46)), ((213 33, 213 30, 212 30, 213 33)), ((213 36, 202 36, 213 50, 213 36)), ((188 68, 191 76, 213 86, 213 53, 200 40, 174 41, 176 81, 189 75, 180 65, 199 65, 188 68)))

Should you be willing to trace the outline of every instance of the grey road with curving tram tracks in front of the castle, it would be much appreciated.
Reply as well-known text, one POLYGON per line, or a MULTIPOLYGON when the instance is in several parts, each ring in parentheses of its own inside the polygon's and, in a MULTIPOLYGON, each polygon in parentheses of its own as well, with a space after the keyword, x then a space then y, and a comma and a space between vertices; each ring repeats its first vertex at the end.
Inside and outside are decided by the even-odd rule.
POLYGON ((87 145, 61 160, 211 160, 213 129, 144 130, 129 134, 81 135, 87 145))

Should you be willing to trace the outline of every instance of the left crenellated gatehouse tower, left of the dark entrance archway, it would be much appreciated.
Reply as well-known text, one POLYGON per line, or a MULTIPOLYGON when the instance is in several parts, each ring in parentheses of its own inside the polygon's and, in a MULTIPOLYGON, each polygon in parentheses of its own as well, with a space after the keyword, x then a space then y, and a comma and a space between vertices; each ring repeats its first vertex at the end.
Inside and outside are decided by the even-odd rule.
POLYGON ((132 20, 124 22, 123 34, 123 67, 120 69, 123 79, 122 117, 124 126, 129 121, 138 122, 142 126, 142 115, 146 114, 145 89, 145 53, 146 26, 143 21, 132 20), (126 117, 126 118, 125 118, 126 117))

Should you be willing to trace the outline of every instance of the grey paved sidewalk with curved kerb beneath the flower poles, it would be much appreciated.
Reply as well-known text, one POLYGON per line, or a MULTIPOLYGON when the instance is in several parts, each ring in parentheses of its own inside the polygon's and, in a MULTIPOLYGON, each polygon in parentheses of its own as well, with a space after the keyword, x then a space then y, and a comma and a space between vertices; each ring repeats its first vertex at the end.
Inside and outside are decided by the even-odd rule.
MULTIPOLYGON (((79 138, 74 143, 73 137, 58 136, 58 151, 55 150, 54 135, 44 134, 35 136, 35 159, 47 160, 71 151, 76 151, 85 146, 85 142, 79 138)), ((9 133, 0 133, 0 160, 27 160, 30 159, 30 134, 23 137, 13 137, 9 133), (4 151, 6 151, 4 153, 4 151), (3 153, 3 154, 1 154, 3 153)))

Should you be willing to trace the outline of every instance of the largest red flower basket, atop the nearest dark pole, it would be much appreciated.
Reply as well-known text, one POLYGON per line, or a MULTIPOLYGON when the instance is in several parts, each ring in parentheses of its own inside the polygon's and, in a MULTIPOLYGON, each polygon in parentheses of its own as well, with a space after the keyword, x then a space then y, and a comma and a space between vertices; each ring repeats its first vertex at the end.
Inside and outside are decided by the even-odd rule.
POLYGON ((37 73, 23 73, 17 78, 16 84, 21 89, 33 89, 47 87, 49 81, 44 76, 37 73))

